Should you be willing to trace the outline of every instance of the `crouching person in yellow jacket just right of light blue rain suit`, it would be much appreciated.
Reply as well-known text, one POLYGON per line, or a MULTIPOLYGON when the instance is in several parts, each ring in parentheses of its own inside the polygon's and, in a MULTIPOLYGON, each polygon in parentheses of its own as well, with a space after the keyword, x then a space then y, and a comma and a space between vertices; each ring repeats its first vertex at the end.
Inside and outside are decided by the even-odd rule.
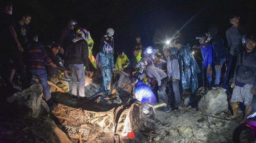
POLYGON ((115 68, 117 70, 125 69, 130 64, 130 61, 129 61, 127 55, 124 54, 123 50, 118 50, 116 52, 116 54, 118 55, 118 57, 116 59, 115 68))

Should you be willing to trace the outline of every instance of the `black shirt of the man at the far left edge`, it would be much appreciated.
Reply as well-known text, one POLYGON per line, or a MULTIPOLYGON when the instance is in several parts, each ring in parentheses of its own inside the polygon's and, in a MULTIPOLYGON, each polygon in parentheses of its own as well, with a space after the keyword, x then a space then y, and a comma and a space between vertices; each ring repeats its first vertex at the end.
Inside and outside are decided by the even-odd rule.
POLYGON ((14 44, 15 41, 9 31, 9 26, 13 25, 11 14, 0 13, 0 45, 14 44))

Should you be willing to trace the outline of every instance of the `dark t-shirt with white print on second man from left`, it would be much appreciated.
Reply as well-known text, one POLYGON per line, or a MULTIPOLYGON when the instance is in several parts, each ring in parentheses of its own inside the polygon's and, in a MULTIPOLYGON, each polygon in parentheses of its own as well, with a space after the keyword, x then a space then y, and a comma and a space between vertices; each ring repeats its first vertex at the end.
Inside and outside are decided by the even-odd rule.
POLYGON ((15 22, 15 32, 17 34, 19 42, 24 45, 28 40, 29 26, 24 24, 21 25, 19 22, 15 22))

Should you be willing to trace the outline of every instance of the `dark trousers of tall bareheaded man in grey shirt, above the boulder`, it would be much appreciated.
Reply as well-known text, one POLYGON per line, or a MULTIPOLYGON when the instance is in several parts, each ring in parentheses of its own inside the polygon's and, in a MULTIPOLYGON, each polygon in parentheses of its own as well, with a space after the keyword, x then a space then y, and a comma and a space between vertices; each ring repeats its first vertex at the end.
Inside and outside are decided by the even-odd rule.
POLYGON ((234 74, 236 68, 237 57, 229 54, 229 61, 226 68, 225 78, 223 82, 222 88, 227 89, 229 85, 229 80, 231 79, 231 75, 234 74))

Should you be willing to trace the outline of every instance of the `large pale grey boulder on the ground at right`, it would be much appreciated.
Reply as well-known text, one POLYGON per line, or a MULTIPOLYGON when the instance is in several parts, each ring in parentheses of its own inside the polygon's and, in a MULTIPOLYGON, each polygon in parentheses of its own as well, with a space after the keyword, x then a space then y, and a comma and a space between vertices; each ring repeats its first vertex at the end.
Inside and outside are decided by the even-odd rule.
POLYGON ((217 114, 227 110, 227 94, 223 89, 208 91, 198 102, 198 109, 205 114, 217 114))

